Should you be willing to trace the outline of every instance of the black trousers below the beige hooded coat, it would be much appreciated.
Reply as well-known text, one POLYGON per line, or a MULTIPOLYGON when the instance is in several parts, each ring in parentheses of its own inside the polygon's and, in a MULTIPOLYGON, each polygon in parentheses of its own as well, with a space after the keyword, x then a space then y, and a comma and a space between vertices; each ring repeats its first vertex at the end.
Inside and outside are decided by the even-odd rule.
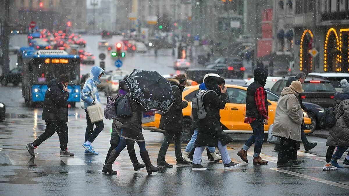
POLYGON ((280 150, 277 156, 277 163, 287 163, 290 160, 297 160, 297 141, 290 138, 280 138, 280 150))

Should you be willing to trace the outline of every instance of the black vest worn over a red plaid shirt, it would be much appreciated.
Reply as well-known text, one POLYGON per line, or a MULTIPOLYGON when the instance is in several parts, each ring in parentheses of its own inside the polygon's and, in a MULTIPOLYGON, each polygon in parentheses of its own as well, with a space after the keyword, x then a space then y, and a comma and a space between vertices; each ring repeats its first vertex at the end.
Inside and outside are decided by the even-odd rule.
MULTIPOLYGON (((262 118, 260 113, 257 110, 256 101, 254 100, 254 94, 259 87, 263 87, 263 86, 261 84, 259 84, 258 82, 252 82, 252 84, 250 84, 247 87, 247 92, 246 92, 246 116, 254 117, 257 119, 262 118)), ((264 87, 263 87, 263 89, 264 89, 264 87)), ((264 92, 265 92, 265 90, 264 90, 264 92)), ((267 92, 265 92, 265 107, 266 107, 266 110, 268 112, 267 92)))

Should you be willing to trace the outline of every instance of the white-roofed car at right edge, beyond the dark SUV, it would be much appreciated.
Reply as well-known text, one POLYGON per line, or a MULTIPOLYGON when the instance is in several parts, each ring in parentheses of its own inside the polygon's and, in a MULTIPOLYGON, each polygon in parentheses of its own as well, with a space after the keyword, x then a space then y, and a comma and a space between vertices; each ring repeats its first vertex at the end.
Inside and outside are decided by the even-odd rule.
POLYGON ((318 77, 330 81, 336 91, 342 91, 341 80, 349 81, 349 73, 327 72, 327 73, 309 73, 307 77, 318 77))

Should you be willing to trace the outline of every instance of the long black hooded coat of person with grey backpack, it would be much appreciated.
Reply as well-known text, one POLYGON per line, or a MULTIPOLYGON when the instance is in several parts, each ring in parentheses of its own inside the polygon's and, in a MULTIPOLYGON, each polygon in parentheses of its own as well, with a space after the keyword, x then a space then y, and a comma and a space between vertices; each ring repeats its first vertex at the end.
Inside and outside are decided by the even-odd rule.
POLYGON ((207 78, 205 78, 206 88, 208 90, 214 90, 215 92, 208 92, 203 97, 203 105, 207 114, 204 119, 198 120, 198 136, 195 141, 195 146, 217 147, 218 141, 221 141, 224 146, 233 141, 232 138, 222 130, 220 123, 220 110, 224 109, 227 96, 225 93, 221 93, 218 87, 215 87, 216 84, 218 85, 218 82, 215 81, 218 80, 216 79, 218 77, 212 78, 212 80, 208 79, 206 82, 207 78))

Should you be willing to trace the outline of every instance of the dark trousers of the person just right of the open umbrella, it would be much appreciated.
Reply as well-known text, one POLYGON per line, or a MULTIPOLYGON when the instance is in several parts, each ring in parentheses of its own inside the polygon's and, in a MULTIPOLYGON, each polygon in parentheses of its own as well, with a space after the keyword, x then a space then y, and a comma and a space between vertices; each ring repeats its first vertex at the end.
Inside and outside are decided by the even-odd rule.
POLYGON ((157 155, 157 163, 163 163, 166 158, 166 152, 169 148, 170 143, 172 142, 172 138, 174 137, 174 153, 176 154, 177 160, 182 159, 182 152, 180 148, 180 136, 182 133, 173 132, 173 131, 165 131, 165 138, 162 142, 162 145, 159 150, 159 154, 157 155))

